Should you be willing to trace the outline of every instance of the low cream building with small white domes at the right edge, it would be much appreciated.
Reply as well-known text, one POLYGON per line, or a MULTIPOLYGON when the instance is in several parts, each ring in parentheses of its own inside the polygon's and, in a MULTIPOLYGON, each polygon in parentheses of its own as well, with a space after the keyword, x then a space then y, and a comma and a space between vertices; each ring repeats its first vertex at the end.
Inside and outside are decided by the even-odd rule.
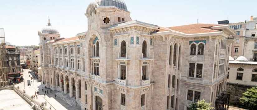
POLYGON ((226 90, 231 92, 231 103, 239 104, 242 93, 252 87, 257 87, 257 62, 249 62, 243 56, 236 60, 230 57, 226 90))

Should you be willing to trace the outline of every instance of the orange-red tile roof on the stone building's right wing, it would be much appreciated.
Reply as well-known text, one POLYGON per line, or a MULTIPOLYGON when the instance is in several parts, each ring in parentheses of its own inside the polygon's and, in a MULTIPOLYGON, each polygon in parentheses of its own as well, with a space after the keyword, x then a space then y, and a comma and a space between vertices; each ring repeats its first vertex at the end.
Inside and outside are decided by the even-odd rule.
POLYGON ((160 28, 159 32, 176 30, 185 34, 199 34, 199 33, 210 33, 219 32, 219 30, 212 30, 211 27, 218 26, 214 24, 191 24, 191 25, 181 25, 168 28, 160 28))

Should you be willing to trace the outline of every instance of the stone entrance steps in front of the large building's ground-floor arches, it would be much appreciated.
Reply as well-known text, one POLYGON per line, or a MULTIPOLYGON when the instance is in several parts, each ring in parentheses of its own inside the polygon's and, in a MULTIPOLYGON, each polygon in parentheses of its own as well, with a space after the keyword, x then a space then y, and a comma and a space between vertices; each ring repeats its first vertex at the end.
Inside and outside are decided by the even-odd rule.
POLYGON ((78 106, 79 104, 76 102, 75 97, 69 97, 69 94, 62 94, 61 92, 57 92, 56 95, 67 102, 70 106, 78 106))

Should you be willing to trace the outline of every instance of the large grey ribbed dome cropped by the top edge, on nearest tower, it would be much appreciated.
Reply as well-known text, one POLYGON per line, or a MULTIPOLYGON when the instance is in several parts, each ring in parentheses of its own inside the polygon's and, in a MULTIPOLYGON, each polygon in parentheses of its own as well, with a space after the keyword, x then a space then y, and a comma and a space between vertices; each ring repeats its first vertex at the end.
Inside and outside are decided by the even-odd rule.
POLYGON ((127 6, 123 0, 95 0, 99 6, 114 6, 122 10, 128 11, 127 6))

